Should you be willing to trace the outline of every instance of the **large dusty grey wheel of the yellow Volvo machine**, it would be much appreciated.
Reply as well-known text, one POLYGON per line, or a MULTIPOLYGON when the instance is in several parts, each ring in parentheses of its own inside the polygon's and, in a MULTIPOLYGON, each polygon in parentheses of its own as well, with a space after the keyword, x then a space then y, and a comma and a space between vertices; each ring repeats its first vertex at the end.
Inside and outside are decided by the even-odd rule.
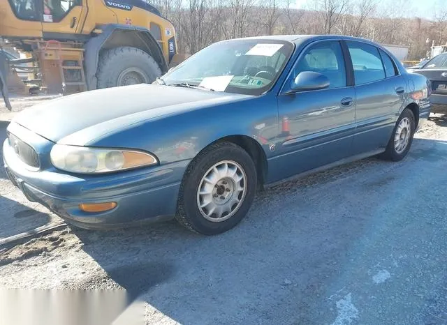
POLYGON ((150 83, 161 76, 154 58, 135 47, 105 50, 98 64, 98 89, 128 84, 150 83))

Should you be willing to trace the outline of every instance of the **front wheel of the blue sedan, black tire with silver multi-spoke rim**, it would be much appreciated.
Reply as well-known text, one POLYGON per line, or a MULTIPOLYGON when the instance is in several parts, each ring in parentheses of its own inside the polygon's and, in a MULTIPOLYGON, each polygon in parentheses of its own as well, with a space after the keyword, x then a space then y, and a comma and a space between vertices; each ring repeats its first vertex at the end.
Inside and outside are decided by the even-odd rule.
POLYGON ((256 181, 256 166, 247 151, 230 142, 212 144, 201 151, 186 169, 179 189, 175 218, 181 225, 198 234, 226 232, 235 227, 249 211, 256 192, 256 181), (213 169, 214 166, 216 169, 213 169), (233 173, 233 178, 223 176, 233 173), (205 176, 211 181, 205 181, 205 176), (243 180, 237 181, 241 176, 243 180), (200 195, 199 187, 200 193, 207 194, 200 195), (239 202, 235 203, 236 200, 239 202), (200 208, 199 202, 210 204, 200 208), (204 213, 210 213, 213 207, 217 213, 205 216, 204 213), (219 213, 225 209, 226 212, 219 213))

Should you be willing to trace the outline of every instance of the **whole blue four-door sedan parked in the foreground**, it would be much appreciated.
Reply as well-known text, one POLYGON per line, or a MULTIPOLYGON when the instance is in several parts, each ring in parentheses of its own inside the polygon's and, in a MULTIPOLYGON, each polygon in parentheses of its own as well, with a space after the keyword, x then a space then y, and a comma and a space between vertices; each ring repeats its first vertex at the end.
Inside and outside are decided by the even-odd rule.
POLYGON ((429 98, 425 77, 367 40, 226 40, 154 84, 21 112, 3 159, 29 200, 73 225, 175 217, 219 234, 263 186, 368 156, 402 160, 429 98))

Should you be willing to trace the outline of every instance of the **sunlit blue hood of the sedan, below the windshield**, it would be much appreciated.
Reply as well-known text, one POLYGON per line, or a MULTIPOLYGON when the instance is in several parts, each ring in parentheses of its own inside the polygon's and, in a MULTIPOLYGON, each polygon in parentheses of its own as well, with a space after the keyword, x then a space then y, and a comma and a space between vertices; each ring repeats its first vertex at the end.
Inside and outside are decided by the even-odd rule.
POLYGON ((244 95, 156 84, 137 84, 77 93, 50 100, 20 112, 13 122, 51 140, 82 130, 110 132, 136 121, 218 105, 246 98, 244 95), (107 125, 108 128, 104 128, 107 125))

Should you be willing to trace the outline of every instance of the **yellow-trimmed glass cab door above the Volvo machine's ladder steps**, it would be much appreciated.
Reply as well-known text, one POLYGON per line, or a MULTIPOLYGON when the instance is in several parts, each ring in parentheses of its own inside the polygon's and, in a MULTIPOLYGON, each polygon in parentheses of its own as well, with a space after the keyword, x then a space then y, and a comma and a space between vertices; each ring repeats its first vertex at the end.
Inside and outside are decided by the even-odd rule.
POLYGON ((43 0, 44 38, 73 39, 82 29, 82 0, 43 0))

